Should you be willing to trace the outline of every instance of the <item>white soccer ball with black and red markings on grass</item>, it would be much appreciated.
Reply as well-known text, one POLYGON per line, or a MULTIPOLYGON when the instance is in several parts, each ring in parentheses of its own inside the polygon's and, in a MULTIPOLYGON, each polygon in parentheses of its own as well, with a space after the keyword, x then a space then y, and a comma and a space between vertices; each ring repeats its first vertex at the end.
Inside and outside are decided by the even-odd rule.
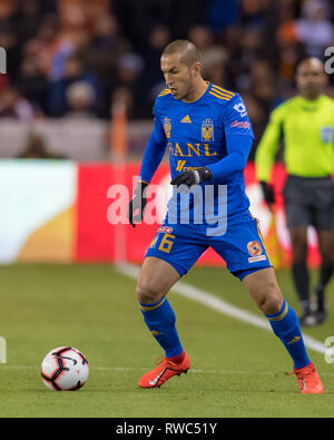
POLYGON ((42 381, 52 391, 79 390, 85 385, 88 374, 87 359, 70 346, 51 350, 41 364, 42 381))

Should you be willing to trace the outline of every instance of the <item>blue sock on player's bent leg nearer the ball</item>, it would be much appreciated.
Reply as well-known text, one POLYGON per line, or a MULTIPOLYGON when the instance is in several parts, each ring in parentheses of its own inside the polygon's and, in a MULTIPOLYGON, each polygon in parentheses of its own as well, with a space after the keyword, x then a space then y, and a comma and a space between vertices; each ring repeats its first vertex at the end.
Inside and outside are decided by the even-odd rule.
POLYGON ((167 297, 164 296, 155 304, 140 303, 140 311, 149 331, 165 350, 166 358, 181 354, 184 349, 175 327, 175 313, 167 297))

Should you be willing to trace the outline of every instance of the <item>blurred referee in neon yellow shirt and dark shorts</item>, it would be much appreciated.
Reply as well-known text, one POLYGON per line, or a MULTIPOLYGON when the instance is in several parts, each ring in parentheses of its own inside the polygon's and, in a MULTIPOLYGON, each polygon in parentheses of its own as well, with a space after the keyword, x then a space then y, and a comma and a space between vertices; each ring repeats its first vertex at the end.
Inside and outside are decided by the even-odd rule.
POLYGON ((292 273, 303 309, 301 324, 308 326, 326 317, 325 287, 334 268, 334 100, 323 95, 326 79, 324 65, 317 58, 307 58, 298 65, 299 95, 272 113, 256 151, 257 178, 271 205, 275 201, 271 170, 283 135, 288 173, 283 195, 293 250, 292 273), (315 312, 311 307, 307 268, 311 225, 317 232, 322 256, 315 312))

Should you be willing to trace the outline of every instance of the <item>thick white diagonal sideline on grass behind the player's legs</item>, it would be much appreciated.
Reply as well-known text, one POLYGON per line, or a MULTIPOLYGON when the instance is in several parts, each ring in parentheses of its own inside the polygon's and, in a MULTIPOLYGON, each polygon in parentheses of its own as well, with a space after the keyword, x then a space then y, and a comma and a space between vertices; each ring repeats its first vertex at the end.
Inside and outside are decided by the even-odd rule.
MULTIPOLYGON (((139 267, 131 264, 120 264, 115 266, 115 268, 120 274, 131 278, 137 278, 139 274, 139 267)), ((227 316, 234 317, 235 320, 272 332, 271 324, 265 317, 256 316, 254 313, 247 312, 243 309, 232 305, 226 301, 219 299, 218 296, 215 296, 208 292, 203 291, 202 289, 191 286, 183 282, 178 282, 171 289, 171 292, 175 292, 189 300, 204 304, 207 307, 213 309, 216 312, 219 312, 227 316)), ((303 339, 305 345, 308 349, 317 353, 325 354, 327 348, 325 346, 324 343, 317 341, 313 336, 306 335, 305 333, 303 333, 303 339)))

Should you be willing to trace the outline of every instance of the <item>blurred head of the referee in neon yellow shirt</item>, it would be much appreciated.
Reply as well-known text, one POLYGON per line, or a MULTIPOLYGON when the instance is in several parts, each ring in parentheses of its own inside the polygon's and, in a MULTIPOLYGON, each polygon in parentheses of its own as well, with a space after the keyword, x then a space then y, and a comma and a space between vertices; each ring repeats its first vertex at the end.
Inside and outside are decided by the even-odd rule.
POLYGON ((314 99, 321 95, 326 80, 323 63, 316 59, 306 60, 298 67, 296 75, 297 88, 306 98, 314 99))

